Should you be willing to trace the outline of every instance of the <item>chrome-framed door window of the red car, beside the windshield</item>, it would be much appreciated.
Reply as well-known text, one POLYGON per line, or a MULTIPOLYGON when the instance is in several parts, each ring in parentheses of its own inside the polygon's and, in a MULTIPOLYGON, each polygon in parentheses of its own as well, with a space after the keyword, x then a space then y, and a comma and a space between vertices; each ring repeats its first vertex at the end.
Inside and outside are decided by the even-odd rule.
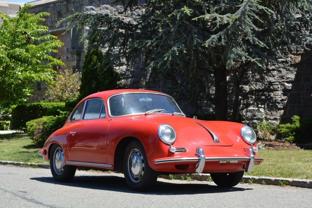
POLYGON ((105 105, 102 99, 88 100, 85 106, 83 119, 98 119, 105 118, 105 105))

